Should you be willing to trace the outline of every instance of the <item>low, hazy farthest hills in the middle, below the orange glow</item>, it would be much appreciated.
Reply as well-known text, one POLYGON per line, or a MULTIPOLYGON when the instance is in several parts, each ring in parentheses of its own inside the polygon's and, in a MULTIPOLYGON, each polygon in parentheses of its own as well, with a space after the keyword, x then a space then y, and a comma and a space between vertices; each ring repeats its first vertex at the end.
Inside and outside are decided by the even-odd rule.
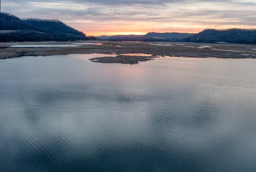
POLYGON ((182 41, 184 38, 191 36, 190 33, 157 33, 150 32, 145 35, 114 35, 114 36, 98 36, 101 40, 117 40, 117 41, 182 41))

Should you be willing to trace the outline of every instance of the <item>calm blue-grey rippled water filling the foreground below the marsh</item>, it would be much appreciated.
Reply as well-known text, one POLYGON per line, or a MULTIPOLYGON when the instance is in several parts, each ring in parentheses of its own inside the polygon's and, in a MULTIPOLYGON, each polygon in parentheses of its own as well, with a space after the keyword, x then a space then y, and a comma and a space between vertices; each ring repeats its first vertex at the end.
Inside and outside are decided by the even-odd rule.
POLYGON ((0 171, 256 171, 256 60, 0 60, 0 171))

